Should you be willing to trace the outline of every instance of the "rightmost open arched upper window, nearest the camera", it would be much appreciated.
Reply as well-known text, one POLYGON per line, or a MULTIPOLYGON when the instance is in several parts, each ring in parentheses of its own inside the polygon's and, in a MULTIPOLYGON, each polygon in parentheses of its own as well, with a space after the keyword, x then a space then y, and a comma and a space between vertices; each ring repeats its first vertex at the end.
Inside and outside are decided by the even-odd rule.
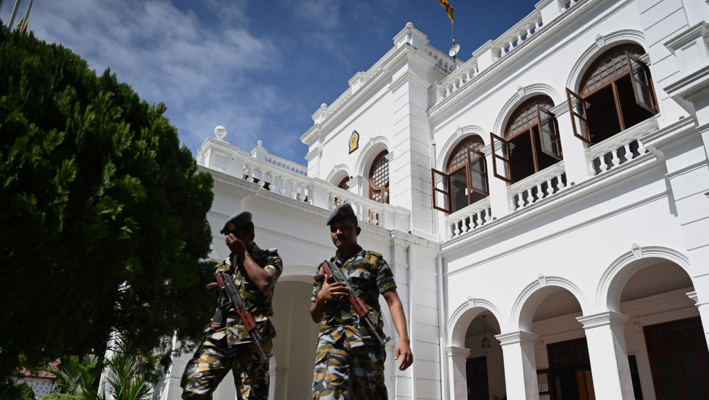
POLYGON ((581 80, 581 94, 566 88, 574 135, 586 145, 610 138, 658 113, 650 70, 639 45, 601 54, 581 80))

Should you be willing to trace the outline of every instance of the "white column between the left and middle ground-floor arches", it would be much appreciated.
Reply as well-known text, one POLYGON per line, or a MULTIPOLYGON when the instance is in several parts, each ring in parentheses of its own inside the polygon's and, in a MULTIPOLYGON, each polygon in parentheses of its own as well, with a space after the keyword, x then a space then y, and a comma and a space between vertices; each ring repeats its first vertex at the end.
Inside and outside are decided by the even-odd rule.
POLYGON ((539 400, 537 359, 534 352, 537 336, 536 333, 523 330, 495 335, 502 345, 508 399, 539 400))

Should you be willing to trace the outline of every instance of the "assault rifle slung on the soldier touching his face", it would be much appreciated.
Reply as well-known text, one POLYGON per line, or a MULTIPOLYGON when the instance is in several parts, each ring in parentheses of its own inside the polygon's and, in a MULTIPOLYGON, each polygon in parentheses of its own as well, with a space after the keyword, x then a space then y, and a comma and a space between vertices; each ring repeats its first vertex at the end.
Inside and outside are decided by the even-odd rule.
POLYGON ((234 311, 236 311, 236 314, 239 316, 246 330, 248 330, 249 335, 251 335, 251 338, 254 340, 254 344, 256 345, 256 348, 258 350, 259 361, 264 362, 270 357, 273 357, 272 352, 266 353, 261 347, 261 343, 263 342, 263 338, 261 337, 261 331, 256 326, 254 316, 252 316, 251 311, 249 311, 249 309, 247 308, 244 299, 242 299, 241 296, 239 296, 239 292, 236 291, 234 279, 231 277, 231 275, 225 272, 217 272, 216 274, 214 274, 214 279, 216 280, 216 282, 208 284, 207 289, 218 289, 220 296, 226 296, 227 302, 220 306, 216 313, 214 313, 211 326, 220 326, 221 320, 223 318, 222 312, 227 313, 229 310, 233 309, 234 311))

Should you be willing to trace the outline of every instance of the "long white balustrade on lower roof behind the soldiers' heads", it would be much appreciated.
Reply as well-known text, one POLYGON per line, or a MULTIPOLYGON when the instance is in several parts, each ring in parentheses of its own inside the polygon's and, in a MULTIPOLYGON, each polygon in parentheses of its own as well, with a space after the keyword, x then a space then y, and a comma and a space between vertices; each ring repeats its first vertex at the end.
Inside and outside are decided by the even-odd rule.
MULTIPOLYGON (((256 154, 257 152, 252 152, 256 154)), ((401 207, 381 204, 364 198, 330 182, 307 177, 295 163, 259 160, 255 155, 223 140, 207 139, 197 152, 197 164, 238 179, 253 182, 259 187, 296 201, 332 211, 342 202, 352 205, 357 218, 385 229, 408 231, 411 229, 411 211, 401 207)), ((283 160, 283 159, 280 159, 283 160)), ((285 160, 284 160, 285 161, 285 160)))

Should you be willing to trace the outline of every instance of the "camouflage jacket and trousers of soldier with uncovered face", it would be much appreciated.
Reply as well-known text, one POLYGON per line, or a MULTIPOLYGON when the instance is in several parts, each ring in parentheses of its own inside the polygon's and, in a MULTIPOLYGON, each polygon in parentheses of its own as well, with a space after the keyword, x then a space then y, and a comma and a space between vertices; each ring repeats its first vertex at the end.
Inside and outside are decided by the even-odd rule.
MULTIPOLYGON (((396 289, 391 268, 378 252, 357 251, 347 260, 335 255, 331 260, 349 277, 356 291, 381 329, 379 294, 396 289)), ((322 268, 318 273, 323 272, 322 268)), ((313 284, 311 301, 316 301, 321 282, 313 284)), ((384 360, 386 352, 376 337, 360 325, 359 316, 348 302, 325 304, 323 322, 318 334, 318 350, 313 376, 313 399, 386 399, 384 360)))

